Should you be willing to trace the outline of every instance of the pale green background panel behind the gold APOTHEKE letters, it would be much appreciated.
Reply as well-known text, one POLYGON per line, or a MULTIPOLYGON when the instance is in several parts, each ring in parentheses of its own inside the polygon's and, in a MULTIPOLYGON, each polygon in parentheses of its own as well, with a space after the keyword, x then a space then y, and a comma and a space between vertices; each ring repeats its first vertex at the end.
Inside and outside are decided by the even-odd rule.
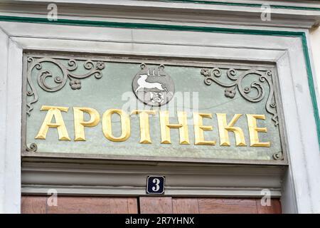
MULTIPOLYGON (((67 60, 58 60, 67 66, 67 60)), ((85 73, 87 70, 82 67, 84 61, 78 61, 77 73, 85 73)), ((26 142, 27 145, 35 142, 38 145, 38 153, 43 152, 65 152, 65 153, 84 153, 99 155, 143 155, 160 157, 201 157, 217 159, 240 159, 240 160, 273 160, 272 155, 275 152, 282 151, 279 126, 274 126, 272 115, 265 110, 267 95, 259 103, 251 103, 241 97, 239 93, 235 98, 225 97, 225 88, 212 83, 206 86, 203 83, 204 77, 201 75, 201 67, 189 66, 166 66, 165 71, 169 73, 175 83, 176 97, 167 105, 161 108, 152 108, 154 110, 166 110, 169 108, 171 113, 171 123, 177 123, 176 110, 184 110, 188 113, 189 120, 189 138, 191 145, 178 144, 178 129, 171 130, 171 145, 161 144, 159 115, 150 116, 150 133, 152 144, 140 144, 140 130, 138 115, 131 116, 131 137, 126 142, 110 142, 102 133, 102 114, 110 108, 125 110, 129 113, 132 109, 151 109, 151 107, 142 105, 132 92, 132 78, 139 71, 139 63, 116 63, 105 62, 106 67, 102 70, 102 78, 99 80, 94 76, 85 78, 81 81, 80 90, 72 90, 67 84, 59 91, 48 93, 42 90, 36 78, 38 70, 33 69, 32 79, 38 91, 38 102, 33 104, 33 111, 27 116, 26 142), (187 93, 185 93, 187 92, 187 93), (177 102, 185 95, 190 99, 177 102), (198 96, 198 98, 197 98, 198 96), (198 100, 198 110, 193 110, 194 100, 198 100), (131 101, 131 102, 130 102, 131 101), (69 107, 68 113, 63 113, 65 125, 71 141, 58 140, 58 133, 55 129, 50 129, 46 140, 34 139, 46 116, 46 111, 40 111, 42 105, 56 105, 69 107), (95 108, 100 113, 100 123, 94 128, 85 128, 85 142, 75 142, 73 130, 73 107, 95 108), (130 107, 131 106, 131 107, 130 107), (213 125, 212 132, 206 132, 206 140, 216 140, 215 146, 212 145, 194 145, 193 135, 193 111, 199 113, 212 113, 213 119, 204 119, 204 125, 213 125), (235 113, 243 114, 236 126, 242 128, 245 133, 247 146, 236 147, 233 133, 229 133, 231 146, 220 146, 218 135, 218 123, 215 113, 228 113, 228 121, 235 113), (271 147, 250 147, 249 134, 247 130, 247 120, 245 114, 265 114, 266 120, 257 120, 258 126, 267 127, 267 133, 259 133, 261 142, 271 142, 271 147)), ((58 76, 60 71, 53 64, 43 63, 43 68, 48 68, 54 76, 58 76)), ((241 72, 241 71, 238 71, 241 72)), ((221 80, 225 74, 221 77, 221 80)), ((250 86, 253 78, 257 76, 248 76, 243 85, 250 86)), ((52 83, 51 78, 47 80, 52 83)), ((53 85, 53 84, 51 84, 53 85)), ((266 94, 269 93, 269 87, 265 85, 266 94)), ((238 91, 237 91, 238 92, 238 91)), ((252 92, 254 95, 254 92, 252 92)), ((30 98, 27 98, 30 99, 30 98)), ((113 124, 114 135, 121 133, 119 119, 114 115, 113 124)))

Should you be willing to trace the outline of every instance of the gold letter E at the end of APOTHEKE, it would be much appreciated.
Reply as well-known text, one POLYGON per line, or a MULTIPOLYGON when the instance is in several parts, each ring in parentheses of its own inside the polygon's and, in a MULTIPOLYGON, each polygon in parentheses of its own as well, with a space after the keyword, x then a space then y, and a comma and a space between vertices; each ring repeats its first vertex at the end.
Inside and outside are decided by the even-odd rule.
POLYGON ((258 128, 257 119, 265 120, 265 115, 247 114, 251 147, 270 147, 270 142, 259 142, 258 133, 267 133, 267 128, 258 128))

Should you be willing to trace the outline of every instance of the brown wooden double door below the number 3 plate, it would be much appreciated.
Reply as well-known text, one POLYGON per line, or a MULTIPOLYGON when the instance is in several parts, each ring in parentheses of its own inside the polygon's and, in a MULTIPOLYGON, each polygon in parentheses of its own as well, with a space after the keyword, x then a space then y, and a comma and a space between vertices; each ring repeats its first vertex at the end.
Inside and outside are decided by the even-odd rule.
POLYGON ((50 206, 46 196, 23 196, 22 213, 103 213, 103 214, 279 214, 279 199, 271 199, 263 207, 255 198, 212 197, 58 197, 58 205, 50 206))

